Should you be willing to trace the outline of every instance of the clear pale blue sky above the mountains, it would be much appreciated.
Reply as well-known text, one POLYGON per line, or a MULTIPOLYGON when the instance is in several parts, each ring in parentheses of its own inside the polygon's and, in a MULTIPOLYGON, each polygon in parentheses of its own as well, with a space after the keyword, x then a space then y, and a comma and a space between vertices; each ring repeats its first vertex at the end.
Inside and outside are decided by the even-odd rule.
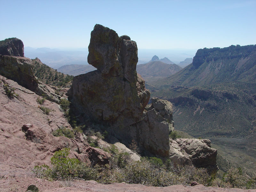
POLYGON ((139 49, 256 44, 256 0, 7 1, 0 39, 25 46, 86 48, 96 23, 128 35, 139 49))

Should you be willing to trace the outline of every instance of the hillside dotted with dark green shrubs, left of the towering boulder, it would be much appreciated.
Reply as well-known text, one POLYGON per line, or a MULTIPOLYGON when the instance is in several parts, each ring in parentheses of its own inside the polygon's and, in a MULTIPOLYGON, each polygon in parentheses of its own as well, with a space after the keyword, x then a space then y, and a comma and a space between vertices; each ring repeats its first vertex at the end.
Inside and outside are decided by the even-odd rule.
POLYGON ((71 85, 70 82, 74 76, 58 72, 56 69, 42 63, 37 57, 36 59, 32 59, 32 62, 34 75, 43 83, 59 87, 69 87, 71 85))

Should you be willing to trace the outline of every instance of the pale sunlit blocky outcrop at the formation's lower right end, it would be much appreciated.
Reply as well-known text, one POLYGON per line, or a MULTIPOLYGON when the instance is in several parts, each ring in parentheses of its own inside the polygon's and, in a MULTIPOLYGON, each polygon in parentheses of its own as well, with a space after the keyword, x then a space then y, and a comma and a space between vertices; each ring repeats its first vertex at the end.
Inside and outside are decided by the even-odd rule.
POLYGON ((174 164, 193 164, 209 171, 218 169, 217 150, 208 139, 170 139, 170 159, 174 164))

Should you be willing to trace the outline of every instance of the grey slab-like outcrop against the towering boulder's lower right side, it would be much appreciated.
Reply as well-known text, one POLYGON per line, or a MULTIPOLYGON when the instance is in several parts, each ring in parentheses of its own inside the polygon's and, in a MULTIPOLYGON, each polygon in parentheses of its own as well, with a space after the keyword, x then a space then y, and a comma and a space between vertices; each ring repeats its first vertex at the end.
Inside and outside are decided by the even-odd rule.
POLYGON ((151 153, 169 155, 169 133, 173 131, 172 104, 167 100, 152 98, 145 108, 142 120, 135 124, 138 142, 151 153))

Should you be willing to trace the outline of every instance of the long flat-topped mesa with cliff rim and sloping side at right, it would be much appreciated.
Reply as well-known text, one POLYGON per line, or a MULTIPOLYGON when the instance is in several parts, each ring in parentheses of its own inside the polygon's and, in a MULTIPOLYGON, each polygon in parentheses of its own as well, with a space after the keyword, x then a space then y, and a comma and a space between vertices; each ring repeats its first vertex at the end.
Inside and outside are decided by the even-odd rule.
POLYGON ((204 86, 223 82, 253 82, 256 79, 256 45, 199 49, 193 62, 156 84, 204 86))

